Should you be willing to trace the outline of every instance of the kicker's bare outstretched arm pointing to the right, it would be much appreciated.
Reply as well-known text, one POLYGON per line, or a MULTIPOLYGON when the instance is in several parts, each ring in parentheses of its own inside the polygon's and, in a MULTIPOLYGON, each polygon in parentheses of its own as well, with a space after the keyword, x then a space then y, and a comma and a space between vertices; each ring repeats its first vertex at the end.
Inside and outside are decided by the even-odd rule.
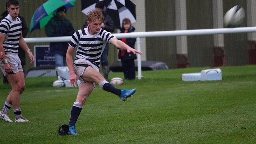
POLYGON ((124 42, 118 40, 117 38, 112 38, 110 39, 110 43, 115 45, 117 48, 121 49, 121 50, 127 50, 127 52, 132 52, 134 54, 142 54, 142 52, 139 52, 137 50, 135 50, 134 48, 131 48, 130 46, 128 46, 127 44, 125 44, 124 42))

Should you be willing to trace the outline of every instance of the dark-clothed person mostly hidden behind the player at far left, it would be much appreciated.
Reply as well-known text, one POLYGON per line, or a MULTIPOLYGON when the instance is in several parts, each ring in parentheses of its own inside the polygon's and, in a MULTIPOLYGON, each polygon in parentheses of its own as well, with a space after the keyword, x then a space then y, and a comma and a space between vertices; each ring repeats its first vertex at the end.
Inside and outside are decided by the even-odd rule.
MULTIPOLYGON (((7 9, 7 2, 6 2, 6 9, 7 9)), ((7 15, 8 15, 8 11, 6 10, 1 14, 0 21, 2 19, 4 19, 5 17, 7 17, 7 15)), ((22 22, 22 29, 21 29, 22 36, 23 36, 23 38, 25 38, 28 34, 28 26, 26 24, 24 17, 22 17, 20 14, 18 15, 18 17, 20 18, 20 20, 22 22)), ((26 65, 26 55, 25 55, 25 51, 20 46, 19 46, 19 54, 18 55, 19 55, 19 58, 21 61, 22 69, 24 70, 24 65, 26 65)), ((3 76, 3 77, 4 77, 3 83, 9 83, 6 76, 3 76)))

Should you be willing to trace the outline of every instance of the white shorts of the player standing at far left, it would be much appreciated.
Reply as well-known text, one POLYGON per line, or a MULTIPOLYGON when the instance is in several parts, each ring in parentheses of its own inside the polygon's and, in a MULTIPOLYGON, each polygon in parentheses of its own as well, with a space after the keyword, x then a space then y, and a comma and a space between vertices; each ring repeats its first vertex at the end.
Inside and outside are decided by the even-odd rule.
MULTIPOLYGON (((18 55, 14 55, 14 54, 6 54, 6 59, 9 63, 9 65, 11 66, 11 70, 13 72, 11 72, 11 74, 15 74, 17 72, 23 72, 22 66, 21 66, 21 61, 18 55)), ((0 68, 4 74, 4 76, 7 76, 9 73, 7 73, 4 70, 4 64, 2 61, 0 61, 0 68)))

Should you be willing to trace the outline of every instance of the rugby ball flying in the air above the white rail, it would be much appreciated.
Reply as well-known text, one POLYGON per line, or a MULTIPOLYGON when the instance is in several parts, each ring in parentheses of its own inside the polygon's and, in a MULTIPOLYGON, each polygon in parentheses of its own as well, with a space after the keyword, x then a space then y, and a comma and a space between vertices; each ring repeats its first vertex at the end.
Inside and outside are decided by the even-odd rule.
POLYGON ((223 18, 225 28, 236 28, 245 20, 245 10, 241 6, 234 6, 226 12, 223 18))

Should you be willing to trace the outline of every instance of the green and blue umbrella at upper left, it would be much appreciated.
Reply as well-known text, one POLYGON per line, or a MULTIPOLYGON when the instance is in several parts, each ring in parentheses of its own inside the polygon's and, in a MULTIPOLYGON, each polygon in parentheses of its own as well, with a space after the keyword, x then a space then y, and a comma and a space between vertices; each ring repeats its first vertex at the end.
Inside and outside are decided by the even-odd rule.
POLYGON ((48 0, 42 6, 38 7, 35 11, 31 23, 30 23, 30 33, 34 30, 41 30, 54 16, 54 11, 59 7, 65 6, 69 9, 74 6, 76 0, 48 0))

